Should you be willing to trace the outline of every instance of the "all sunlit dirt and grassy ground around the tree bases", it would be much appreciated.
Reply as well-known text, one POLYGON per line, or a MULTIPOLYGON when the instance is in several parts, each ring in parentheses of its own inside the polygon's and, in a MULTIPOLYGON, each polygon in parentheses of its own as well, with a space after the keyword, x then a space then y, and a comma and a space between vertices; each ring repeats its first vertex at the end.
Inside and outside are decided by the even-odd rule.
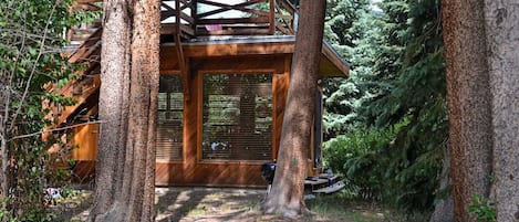
MULTIPOLYGON (((260 203, 264 189, 157 188, 157 222, 289 222, 281 215, 264 215, 260 203)), ((75 194, 53 207, 58 221, 85 221, 92 204, 91 190, 75 194)), ((352 201, 336 194, 307 200, 315 214, 295 221, 386 222, 407 221, 399 213, 365 201, 352 201)))

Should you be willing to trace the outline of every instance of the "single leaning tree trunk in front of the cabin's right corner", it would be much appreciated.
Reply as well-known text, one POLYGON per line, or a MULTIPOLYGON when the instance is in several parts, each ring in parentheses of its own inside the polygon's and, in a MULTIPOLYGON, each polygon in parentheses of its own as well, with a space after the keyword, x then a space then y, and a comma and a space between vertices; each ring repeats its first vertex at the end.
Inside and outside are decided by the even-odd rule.
POLYGON ((325 0, 301 1, 295 52, 283 118, 272 190, 263 203, 267 213, 294 218, 308 213, 303 201, 314 95, 321 57, 325 0))

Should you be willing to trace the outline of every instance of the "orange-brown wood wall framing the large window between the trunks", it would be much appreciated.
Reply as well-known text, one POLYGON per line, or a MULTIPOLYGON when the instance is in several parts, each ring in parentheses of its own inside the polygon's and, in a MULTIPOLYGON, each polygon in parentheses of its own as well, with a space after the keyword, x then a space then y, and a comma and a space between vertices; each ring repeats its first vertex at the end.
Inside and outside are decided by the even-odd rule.
MULTIPOLYGON (((172 54, 173 55, 173 54, 172 54)), ((157 186, 208 186, 208 187, 264 187, 261 165, 264 161, 203 161, 201 146, 201 77, 203 73, 272 73, 273 140, 279 146, 282 113, 288 91, 287 55, 249 55, 190 57, 189 101, 184 101, 184 160, 183 162, 157 162, 157 186), (281 121, 279 121, 281 119, 281 121)), ((169 61, 167 57, 164 60, 169 61)), ((172 66, 162 66, 172 67, 172 66)), ((272 158, 277 156, 273 149, 272 158)))

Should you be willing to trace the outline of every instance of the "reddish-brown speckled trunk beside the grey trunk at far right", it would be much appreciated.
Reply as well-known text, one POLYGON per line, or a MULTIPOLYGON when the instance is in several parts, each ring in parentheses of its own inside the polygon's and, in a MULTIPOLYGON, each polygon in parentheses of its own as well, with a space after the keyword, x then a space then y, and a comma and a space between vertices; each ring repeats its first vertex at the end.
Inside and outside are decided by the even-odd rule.
POLYGON ((473 221, 475 194, 488 197, 491 175, 491 96, 484 2, 443 0, 451 180, 456 221, 473 221))

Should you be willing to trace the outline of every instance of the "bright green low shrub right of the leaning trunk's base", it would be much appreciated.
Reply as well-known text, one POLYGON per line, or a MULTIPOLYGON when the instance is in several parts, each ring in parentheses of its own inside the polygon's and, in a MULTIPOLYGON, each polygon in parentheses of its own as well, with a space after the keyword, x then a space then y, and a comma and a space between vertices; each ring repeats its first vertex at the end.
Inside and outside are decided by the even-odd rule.
POLYGON ((387 191, 387 158, 394 129, 361 128, 324 144, 325 166, 344 175, 354 197, 380 200, 387 191))

